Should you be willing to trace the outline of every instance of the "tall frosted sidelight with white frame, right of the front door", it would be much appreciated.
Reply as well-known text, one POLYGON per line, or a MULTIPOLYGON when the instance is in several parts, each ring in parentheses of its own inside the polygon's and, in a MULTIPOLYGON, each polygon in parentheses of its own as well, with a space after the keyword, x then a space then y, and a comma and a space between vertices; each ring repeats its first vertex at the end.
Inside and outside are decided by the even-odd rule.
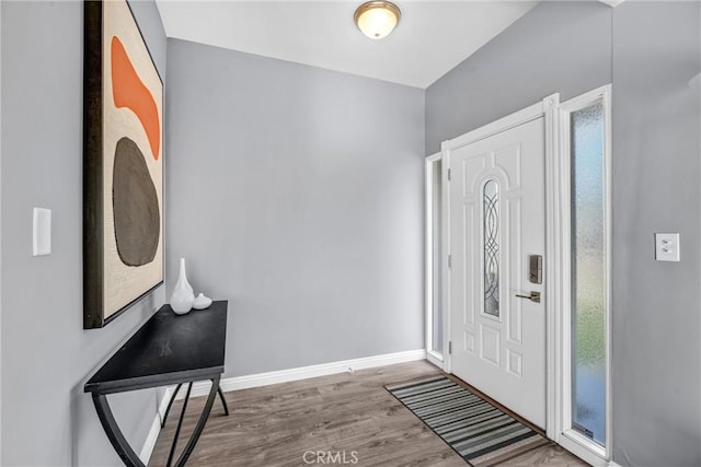
POLYGON ((570 167, 571 246, 563 431, 567 439, 606 459, 611 439, 610 86, 560 108, 570 167))

